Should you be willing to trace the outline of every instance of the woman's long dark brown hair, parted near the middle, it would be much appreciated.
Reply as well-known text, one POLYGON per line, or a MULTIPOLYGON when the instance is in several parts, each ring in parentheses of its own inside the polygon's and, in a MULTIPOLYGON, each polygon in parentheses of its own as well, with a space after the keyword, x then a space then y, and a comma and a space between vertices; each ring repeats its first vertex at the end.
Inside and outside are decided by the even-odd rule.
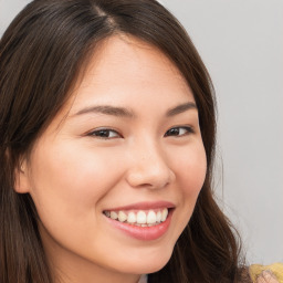
POLYGON ((190 85, 208 170, 195 212, 168 264, 149 282, 238 282, 239 243, 216 203, 213 87, 180 23, 155 0, 34 0, 0 41, 0 282, 52 283, 38 216, 13 190, 21 157, 62 108, 87 57, 114 33, 137 36, 166 54, 190 85))

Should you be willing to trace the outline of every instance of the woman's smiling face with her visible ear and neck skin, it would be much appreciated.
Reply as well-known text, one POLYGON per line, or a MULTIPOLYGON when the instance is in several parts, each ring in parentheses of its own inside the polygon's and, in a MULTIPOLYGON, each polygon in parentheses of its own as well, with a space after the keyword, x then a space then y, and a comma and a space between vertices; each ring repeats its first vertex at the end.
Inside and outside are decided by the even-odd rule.
POLYGON ((135 282, 167 263, 205 180, 195 99, 160 51, 125 35, 101 44, 73 92, 15 188, 64 282, 135 282))

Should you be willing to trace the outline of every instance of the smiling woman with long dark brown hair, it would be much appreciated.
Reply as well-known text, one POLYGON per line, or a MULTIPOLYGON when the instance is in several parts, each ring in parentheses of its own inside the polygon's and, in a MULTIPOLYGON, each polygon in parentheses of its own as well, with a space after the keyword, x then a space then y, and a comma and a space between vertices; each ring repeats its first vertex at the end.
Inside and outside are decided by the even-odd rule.
POLYGON ((250 281, 211 190, 212 84, 165 8, 35 0, 0 70, 1 282, 250 281))

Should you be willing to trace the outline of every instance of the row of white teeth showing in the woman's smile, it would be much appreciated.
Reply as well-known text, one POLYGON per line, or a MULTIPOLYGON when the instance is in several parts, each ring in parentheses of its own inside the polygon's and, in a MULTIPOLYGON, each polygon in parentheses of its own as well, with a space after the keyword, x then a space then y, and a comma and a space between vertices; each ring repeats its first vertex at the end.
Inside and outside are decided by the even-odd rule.
POLYGON ((105 210, 103 213, 113 220, 136 227, 153 227, 166 221, 169 209, 158 208, 148 210, 105 210))

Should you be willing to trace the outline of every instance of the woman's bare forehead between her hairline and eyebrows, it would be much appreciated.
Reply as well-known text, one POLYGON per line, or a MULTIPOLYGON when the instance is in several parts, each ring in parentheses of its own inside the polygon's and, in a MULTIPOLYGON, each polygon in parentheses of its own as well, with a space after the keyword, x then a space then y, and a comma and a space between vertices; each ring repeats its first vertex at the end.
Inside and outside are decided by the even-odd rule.
POLYGON ((130 103, 130 98, 178 99, 191 91, 176 65, 157 48, 127 35, 104 40, 88 61, 74 91, 71 114, 82 104, 130 103))

